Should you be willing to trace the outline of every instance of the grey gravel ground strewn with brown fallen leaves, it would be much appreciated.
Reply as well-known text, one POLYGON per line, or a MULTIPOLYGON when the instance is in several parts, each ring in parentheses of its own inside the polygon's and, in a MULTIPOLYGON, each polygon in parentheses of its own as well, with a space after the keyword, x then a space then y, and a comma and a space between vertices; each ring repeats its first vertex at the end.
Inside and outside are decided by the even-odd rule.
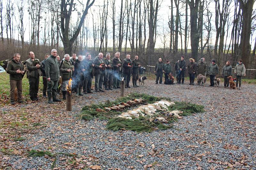
MULTIPOLYGON (((106 120, 76 120, 75 114, 90 103, 115 100, 118 90, 74 96, 73 111, 65 103, 50 107, 46 99, 30 103, 40 109, 42 128, 22 133, 23 141, 4 140, 3 145, 17 148, 16 154, 0 155, 5 169, 51 169, 53 158, 26 157, 30 149, 49 149, 52 153, 76 153, 76 159, 57 156, 56 169, 256 169, 256 86, 242 84, 241 90, 221 87, 155 84, 130 88, 130 92, 170 97, 205 106, 206 112, 183 117, 174 128, 152 133, 105 130, 106 120), (89 168, 90 169, 90 168, 89 168)), ((5 106, 13 112, 28 105, 5 106)), ((35 111, 35 110, 33 110, 35 111)), ((36 119, 36 118, 35 118, 36 119)), ((4 138, 3 133, 0 137, 4 138)), ((2 161, 2 163, 1 163, 2 161)))

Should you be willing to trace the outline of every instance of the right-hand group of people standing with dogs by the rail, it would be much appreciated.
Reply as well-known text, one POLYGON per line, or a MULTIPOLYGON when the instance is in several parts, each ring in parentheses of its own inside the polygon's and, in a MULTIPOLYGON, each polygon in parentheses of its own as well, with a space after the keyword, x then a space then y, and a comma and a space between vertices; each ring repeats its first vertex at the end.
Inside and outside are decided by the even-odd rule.
MULTIPOLYGON (((184 84, 184 76, 186 71, 186 61, 184 60, 184 56, 181 56, 180 60, 178 60, 175 65, 174 69, 176 72, 176 83, 184 84)), ((214 86, 214 77, 218 76, 219 67, 216 64, 215 60, 212 60, 210 66, 207 66, 207 63, 204 61, 204 58, 201 58, 198 63, 195 62, 193 58, 189 59, 189 63, 187 65, 188 74, 189 74, 189 85, 194 85, 195 77, 198 74, 202 74, 204 76, 210 76, 210 85, 214 86)), ((166 82, 170 77, 169 73, 171 73, 172 67, 170 61, 167 60, 166 64, 159 58, 158 62, 156 62, 155 67, 155 74, 156 74, 156 84, 162 84, 163 74, 164 74, 164 81, 166 82)), ((239 60, 235 67, 235 74, 236 74, 236 87, 238 87, 239 82, 239 89, 241 89, 241 78, 245 76, 245 67, 242 60, 239 60)), ((222 69, 222 76, 224 78, 224 88, 229 86, 228 76, 233 76, 232 74, 232 66, 230 62, 227 61, 225 66, 222 69)), ((165 83, 167 84, 167 83, 165 83)), ((203 83, 204 85, 204 83, 203 83)))

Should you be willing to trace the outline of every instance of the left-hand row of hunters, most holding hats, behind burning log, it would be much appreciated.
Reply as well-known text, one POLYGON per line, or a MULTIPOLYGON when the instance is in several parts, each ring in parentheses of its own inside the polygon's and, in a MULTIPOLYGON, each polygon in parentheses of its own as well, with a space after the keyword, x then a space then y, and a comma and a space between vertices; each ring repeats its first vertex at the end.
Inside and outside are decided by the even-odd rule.
MULTIPOLYGON (((125 88, 129 86, 131 75, 133 87, 139 87, 137 81, 139 79, 140 62, 138 55, 131 60, 129 54, 122 60, 120 52, 115 53, 113 59, 110 53, 103 53, 91 60, 91 54, 86 53, 83 59, 82 55, 76 58, 76 54, 64 55, 64 59, 60 60, 57 50, 52 49, 51 55, 45 54, 44 60, 39 61, 35 58, 33 52, 29 52, 29 59, 25 61, 27 78, 29 81, 29 96, 32 101, 38 100, 39 78, 43 77, 43 97, 48 97, 48 103, 60 102, 57 98, 59 87, 66 99, 67 86, 70 79, 72 80, 72 91, 77 96, 92 93, 92 78, 95 77, 95 92, 104 92, 105 90, 113 90, 120 88, 121 74, 124 77, 125 88), (61 80, 60 80, 61 79, 61 80), (82 93, 83 89, 83 93, 82 93)), ((15 53, 12 60, 8 62, 6 71, 10 74, 10 102, 15 104, 14 92, 17 87, 17 101, 22 101, 22 78, 25 74, 24 65, 20 61, 20 54, 15 53)))

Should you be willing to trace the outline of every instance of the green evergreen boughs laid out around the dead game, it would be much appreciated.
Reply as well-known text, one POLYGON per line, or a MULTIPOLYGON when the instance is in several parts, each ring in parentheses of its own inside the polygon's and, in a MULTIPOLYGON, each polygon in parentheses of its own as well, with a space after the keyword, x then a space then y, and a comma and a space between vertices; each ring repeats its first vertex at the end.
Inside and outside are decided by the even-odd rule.
MULTIPOLYGON (((133 100, 135 98, 141 98, 145 100, 146 103, 152 104, 154 102, 160 101, 160 100, 167 100, 171 101, 170 98, 167 97, 156 97, 156 96, 150 96, 147 94, 141 94, 141 93, 131 93, 128 96, 120 97, 116 99, 113 102, 107 101, 106 103, 99 103, 99 104, 91 104, 89 106, 84 106, 82 108, 82 113, 78 115, 78 119, 84 119, 84 120, 92 120, 93 117, 98 117, 101 120, 107 119, 108 124, 106 129, 112 130, 112 131, 119 131, 120 129, 125 130, 131 130, 136 132, 151 132, 153 130, 159 129, 159 130, 166 130, 172 127, 172 122, 176 121, 177 119, 171 118, 171 120, 168 122, 168 124, 163 124, 161 122, 155 122, 151 123, 149 121, 149 117, 139 117, 139 118, 133 118, 133 119, 124 119, 122 117, 116 117, 122 112, 111 110, 108 111, 104 109, 105 107, 111 107, 113 105, 117 105, 119 103, 126 103, 129 100, 133 100), (96 109, 102 109, 105 112, 98 112, 96 109), (170 125, 171 124, 171 125, 170 125)), ((180 110, 183 111, 181 114, 182 116, 188 116, 192 113, 202 113, 204 112, 204 106, 194 104, 194 103, 186 103, 186 102, 174 102, 175 105, 171 105, 168 107, 168 110, 171 112, 172 110, 180 110)), ((129 110, 128 107, 123 108, 126 112, 129 110)), ((160 112, 157 112, 155 117, 164 117, 164 115, 160 112)))

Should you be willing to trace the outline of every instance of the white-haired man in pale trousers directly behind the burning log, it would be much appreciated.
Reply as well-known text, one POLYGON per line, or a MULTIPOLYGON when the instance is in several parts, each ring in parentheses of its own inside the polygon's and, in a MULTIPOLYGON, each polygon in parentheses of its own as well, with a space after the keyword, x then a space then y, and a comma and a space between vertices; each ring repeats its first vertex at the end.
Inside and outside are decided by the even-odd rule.
POLYGON ((72 77, 72 72, 74 71, 74 66, 72 66, 69 54, 65 54, 64 59, 65 60, 63 61, 62 65, 60 67, 60 75, 62 77, 62 95, 63 95, 63 99, 66 100, 68 81, 72 77))

